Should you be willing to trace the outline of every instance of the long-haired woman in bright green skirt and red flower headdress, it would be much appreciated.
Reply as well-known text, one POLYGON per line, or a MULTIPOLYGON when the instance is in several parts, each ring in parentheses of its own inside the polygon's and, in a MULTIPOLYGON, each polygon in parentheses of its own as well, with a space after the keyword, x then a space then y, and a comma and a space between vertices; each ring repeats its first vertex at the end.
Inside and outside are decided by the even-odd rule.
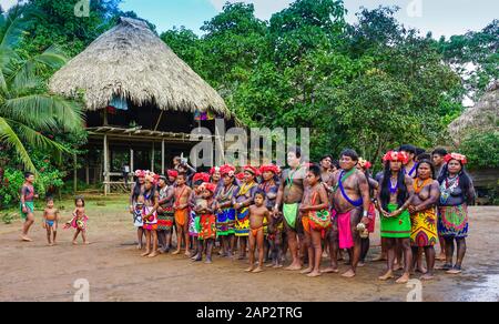
POLYGON ((413 179, 404 174, 403 163, 407 163, 407 154, 389 151, 383 158, 385 172, 378 190, 378 210, 381 217, 381 241, 388 254, 387 272, 381 281, 393 279, 395 250, 401 246, 404 252, 404 274, 396 282, 407 283, 410 277, 413 251, 410 249, 410 214, 407 211, 414 198, 413 179))

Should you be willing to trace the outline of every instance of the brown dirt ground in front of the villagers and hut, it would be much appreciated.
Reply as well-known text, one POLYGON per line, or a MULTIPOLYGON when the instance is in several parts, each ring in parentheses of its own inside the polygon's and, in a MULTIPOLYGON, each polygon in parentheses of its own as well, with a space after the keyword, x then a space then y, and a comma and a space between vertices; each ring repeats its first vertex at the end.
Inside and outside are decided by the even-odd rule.
MULTIPOLYGON (((57 205, 64 207, 67 221, 72 202, 57 205)), ((104 302, 406 301, 411 290, 377 281, 385 269, 379 262, 367 263, 357 277, 346 280, 338 274, 308 279, 273 269, 246 274, 245 261, 220 257, 211 265, 194 264, 184 256, 143 259, 133 245, 136 235, 125 196, 88 198, 86 211, 92 242, 88 246, 72 246, 73 232, 62 229, 59 245, 48 246, 40 211, 31 231, 33 243, 20 242, 19 219, 0 224, 0 301, 71 302, 79 279, 89 281, 91 301, 104 302)), ((456 276, 438 272, 436 280, 424 282, 424 301, 499 301, 499 207, 472 207, 470 219, 465 272, 456 276)), ((379 240, 373 239, 373 244, 368 259, 380 250, 379 240)))

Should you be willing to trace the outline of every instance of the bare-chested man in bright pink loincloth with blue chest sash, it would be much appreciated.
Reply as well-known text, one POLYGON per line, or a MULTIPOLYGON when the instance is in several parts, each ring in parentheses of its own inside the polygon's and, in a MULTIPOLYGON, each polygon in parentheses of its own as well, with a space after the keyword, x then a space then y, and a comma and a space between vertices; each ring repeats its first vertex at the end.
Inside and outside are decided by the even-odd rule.
MULTIPOLYGON (((369 224, 370 196, 366 175, 357 170, 358 154, 354 150, 344 150, 339 160, 342 170, 333 175, 334 214, 338 223, 339 249, 347 249, 350 269, 343 274, 354 277, 360 260, 361 239, 357 231, 359 223, 369 224)), ((332 257, 335 254, 332 253, 332 257)))

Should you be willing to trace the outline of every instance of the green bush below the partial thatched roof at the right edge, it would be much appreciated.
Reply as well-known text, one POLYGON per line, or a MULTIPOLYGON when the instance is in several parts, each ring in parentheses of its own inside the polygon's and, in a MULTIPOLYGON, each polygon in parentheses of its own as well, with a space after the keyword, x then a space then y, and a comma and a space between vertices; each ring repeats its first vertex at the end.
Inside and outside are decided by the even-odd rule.
POLYGON ((459 151, 468 158, 470 169, 499 168, 499 131, 471 132, 465 136, 459 151))

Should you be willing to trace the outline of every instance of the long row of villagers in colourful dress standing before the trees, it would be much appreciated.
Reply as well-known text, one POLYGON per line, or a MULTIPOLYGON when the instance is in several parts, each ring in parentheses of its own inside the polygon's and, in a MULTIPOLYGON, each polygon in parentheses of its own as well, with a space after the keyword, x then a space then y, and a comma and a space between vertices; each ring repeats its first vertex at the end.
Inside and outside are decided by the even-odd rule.
POLYGON ((430 280, 436 259, 445 261, 441 270, 447 273, 461 272, 467 206, 475 200, 466 163, 461 154, 444 149, 426 153, 414 145, 387 152, 384 171, 376 175, 371 163, 354 150, 343 151, 337 162, 326 155, 314 164, 293 148, 285 170, 266 164, 246 165, 241 172, 222 165, 197 173, 175 159, 165 175, 135 171, 130 213, 138 247, 145 245, 142 256, 169 253, 175 232, 172 254, 184 249, 193 261, 212 263, 216 246, 224 257, 243 260, 249 252, 246 271, 253 273, 262 272, 265 263, 282 267, 287 252, 292 260, 286 270, 308 276, 338 273, 338 260, 347 252, 345 277, 364 265, 378 214, 378 260, 387 261, 379 280, 395 277, 397 270, 403 270, 397 283, 408 282, 415 271, 430 280), (438 242, 439 257, 434 249, 438 242), (329 266, 320 269, 324 253, 329 266))

